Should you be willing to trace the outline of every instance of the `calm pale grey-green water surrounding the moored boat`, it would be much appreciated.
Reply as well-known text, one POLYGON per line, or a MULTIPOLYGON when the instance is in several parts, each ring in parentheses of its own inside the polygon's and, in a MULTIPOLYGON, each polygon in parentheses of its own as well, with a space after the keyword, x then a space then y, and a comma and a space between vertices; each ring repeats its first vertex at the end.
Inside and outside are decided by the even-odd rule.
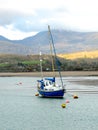
MULTIPOLYGON (((70 81, 97 77, 63 77, 67 93, 63 99, 36 97, 36 77, 0 77, 0 130, 97 130, 97 86, 70 81), (88 90, 85 93, 82 90, 88 90), (77 92, 79 98, 73 99, 77 92), (66 108, 61 104, 70 101, 66 108)), ((59 82, 59 79, 58 79, 59 82)))

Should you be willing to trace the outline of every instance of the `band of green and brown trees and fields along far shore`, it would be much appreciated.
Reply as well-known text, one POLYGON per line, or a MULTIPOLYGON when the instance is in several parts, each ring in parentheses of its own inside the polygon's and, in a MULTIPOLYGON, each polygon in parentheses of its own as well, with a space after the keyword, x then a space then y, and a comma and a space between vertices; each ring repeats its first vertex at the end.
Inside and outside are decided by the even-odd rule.
MULTIPOLYGON (((86 52, 89 55, 90 52, 86 52)), ((94 54, 94 53, 93 53, 94 54)), ((70 54, 69 54, 70 55, 70 54)), ((72 54, 71 54, 72 55, 72 54)), ((62 71, 96 71, 98 70, 98 55, 95 57, 65 57, 58 55, 59 63, 62 71)), ((42 55, 43 71, 51 71, 52 65, 50 55, 42 55)), ((57 67, 55 67, 57 69, 57 67)), ((38 72, 40 71, 39 55, 0 55, 0 72, 38 72)))

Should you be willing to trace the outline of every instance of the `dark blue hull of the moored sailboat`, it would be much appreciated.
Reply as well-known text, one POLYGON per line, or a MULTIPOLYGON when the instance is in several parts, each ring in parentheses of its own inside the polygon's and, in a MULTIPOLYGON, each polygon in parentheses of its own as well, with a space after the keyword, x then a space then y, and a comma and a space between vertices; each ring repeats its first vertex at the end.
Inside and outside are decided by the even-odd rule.
POLYGON ((64 96, 65 90, 61 89, 61 90, 56 90, 56 91, 45 91, 45 90, 39 89, 38 92, 42 97, 60 97, 61 98, 64 96))

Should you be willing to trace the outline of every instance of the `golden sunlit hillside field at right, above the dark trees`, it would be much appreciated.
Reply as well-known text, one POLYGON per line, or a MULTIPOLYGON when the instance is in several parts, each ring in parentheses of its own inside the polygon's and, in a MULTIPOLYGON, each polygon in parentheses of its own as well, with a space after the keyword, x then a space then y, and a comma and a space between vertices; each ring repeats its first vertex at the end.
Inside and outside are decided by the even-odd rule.
POLYGON ((98 58, 98 50, 96 51, 83 51, 83 52, 76 52, 70 54, 59 54, 61 58, 66 58, 70 60, 78 59, 78 58, 98 58))

